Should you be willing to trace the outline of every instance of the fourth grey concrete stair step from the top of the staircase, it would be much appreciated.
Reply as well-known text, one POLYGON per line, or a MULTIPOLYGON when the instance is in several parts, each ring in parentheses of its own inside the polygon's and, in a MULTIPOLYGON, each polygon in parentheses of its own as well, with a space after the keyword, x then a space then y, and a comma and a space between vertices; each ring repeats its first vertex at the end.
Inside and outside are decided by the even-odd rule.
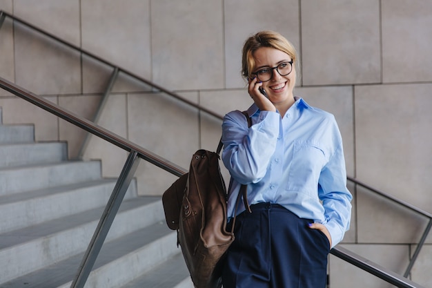
MULTIPOLYGON (((0 196, 0 231, 21 229, 66 215, 103 207, 116 180, 101 179, 0 196)), ((136 196, 132 181, 125 200, 136 196)))

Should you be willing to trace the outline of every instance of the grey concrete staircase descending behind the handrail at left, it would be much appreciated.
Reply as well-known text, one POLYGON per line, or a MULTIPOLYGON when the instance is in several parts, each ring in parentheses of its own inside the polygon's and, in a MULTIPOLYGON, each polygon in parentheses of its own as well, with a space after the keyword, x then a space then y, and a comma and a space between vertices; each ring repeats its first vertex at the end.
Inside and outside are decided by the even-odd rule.
MULTIPOLYGON (((66 159, 34 126, 1 124, 0 288, 70 287, 115 180, 98 161, 66 159)), ((132 182, 86 287, 193 287, 160 197, 132 182)))

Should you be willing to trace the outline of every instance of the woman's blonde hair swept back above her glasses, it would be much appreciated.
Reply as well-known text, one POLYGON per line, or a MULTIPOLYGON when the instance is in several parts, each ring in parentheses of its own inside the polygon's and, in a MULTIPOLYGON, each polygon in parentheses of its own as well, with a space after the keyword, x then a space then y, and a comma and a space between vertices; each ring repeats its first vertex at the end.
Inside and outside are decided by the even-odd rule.
POLYGON ((262 47, 275 48, 286 52, 293 59, 294 65, 297 65, 297 52, 290 41, 278 32, 270 30, 257 32, 257 34, 246 39, 242 50, 242 75, 246 79, 251 78, 253 68, 255 68, 253 53, 262 47))

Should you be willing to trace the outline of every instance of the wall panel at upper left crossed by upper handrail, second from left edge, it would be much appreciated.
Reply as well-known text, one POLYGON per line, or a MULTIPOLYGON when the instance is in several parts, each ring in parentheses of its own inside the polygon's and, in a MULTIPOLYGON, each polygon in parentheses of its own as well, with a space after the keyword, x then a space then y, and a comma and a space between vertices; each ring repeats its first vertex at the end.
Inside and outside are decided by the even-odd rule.
MULTIPOLYGON (((14 15, 79 46, 77 1, 15 0, 14 15)), ((19 24, 14 25, 14 40, 17 84, 39 95, 81 92, 81 65, 77 52, 19 24)))

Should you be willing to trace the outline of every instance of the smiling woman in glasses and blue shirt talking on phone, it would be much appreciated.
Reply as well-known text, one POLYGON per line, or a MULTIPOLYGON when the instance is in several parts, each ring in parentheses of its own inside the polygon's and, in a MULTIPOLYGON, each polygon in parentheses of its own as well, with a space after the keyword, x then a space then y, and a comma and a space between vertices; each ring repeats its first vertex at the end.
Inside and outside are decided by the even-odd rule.
POLYGON ((349 227, 342 137, 333 115, 294 97, 297 61, 277 32, 258 32, 244 44, 252 126, 239 111, 222 124, 228 218, 237 214, 224 288, 324 288, 328 252, 349 227), (235 207, 241 184, 252 212, 243 201, 235 207))

